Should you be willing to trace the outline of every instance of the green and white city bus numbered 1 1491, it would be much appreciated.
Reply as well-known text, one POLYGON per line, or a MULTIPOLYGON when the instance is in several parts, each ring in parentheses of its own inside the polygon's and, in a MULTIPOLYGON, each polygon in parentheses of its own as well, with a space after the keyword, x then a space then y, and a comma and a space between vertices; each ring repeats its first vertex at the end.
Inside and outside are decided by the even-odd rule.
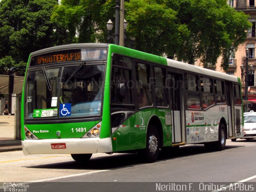
POLYGON ((21 107, 24 154, 138 152, 242 136, 240 79, 113 44, 30 54, 21 107))

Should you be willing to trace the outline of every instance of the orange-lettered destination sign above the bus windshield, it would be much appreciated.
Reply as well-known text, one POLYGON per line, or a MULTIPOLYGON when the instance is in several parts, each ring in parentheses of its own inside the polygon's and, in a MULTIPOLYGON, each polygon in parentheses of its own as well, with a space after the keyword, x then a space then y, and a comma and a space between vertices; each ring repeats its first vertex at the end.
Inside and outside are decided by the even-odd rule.
POLYGON ((106 58, 106 50, 71 50, 68 52, 56 52, 32 58, 31 65, 53 64, 60 62, 98 60, 106 58))

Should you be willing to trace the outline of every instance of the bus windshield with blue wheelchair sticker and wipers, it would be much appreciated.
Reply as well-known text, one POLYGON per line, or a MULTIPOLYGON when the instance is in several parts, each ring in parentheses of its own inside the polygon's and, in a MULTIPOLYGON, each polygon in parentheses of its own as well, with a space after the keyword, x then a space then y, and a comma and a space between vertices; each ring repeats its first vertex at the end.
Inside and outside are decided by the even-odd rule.
POLYGON ((81 118, 101 114, 104 65, 28 71, 25 118, 81 118), (62 111, 64 110, 64 112, 62 111))

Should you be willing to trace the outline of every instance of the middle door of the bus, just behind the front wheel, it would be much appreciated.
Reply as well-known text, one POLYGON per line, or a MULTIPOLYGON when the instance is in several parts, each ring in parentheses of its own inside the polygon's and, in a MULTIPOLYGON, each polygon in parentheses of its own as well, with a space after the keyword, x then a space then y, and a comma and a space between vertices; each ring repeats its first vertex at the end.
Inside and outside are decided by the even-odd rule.
POLYGON ((172 107, 172 143, 182 142, 183 84, 182 75, 168 73, 172 107))

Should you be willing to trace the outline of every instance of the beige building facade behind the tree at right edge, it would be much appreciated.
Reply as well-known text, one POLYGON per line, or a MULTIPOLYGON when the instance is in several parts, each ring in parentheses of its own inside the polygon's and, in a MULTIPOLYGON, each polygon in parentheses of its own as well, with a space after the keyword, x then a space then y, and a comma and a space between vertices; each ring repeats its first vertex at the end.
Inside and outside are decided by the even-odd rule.
MULTIPOLYGON (((249 49, 248 55, 248 100, 255 101, 252 104, 248 104, 248 110, 256 111, 256 0, 228 0, 228 5, 235 8, 237 11, 242 11, 250 16, 249 21, 252 23, 252 27, 247 31, 247 38, 243 44, 238 46, 236 52, 231 53, 229 60, 229 68, 227 74, 238 76, 242 80, 242 94, 244 96, 245 76, 242 72, 245 72, 246 65, 246 48, 249 49), (242 69, 241 69, 242 66, 242 69)), ((218 59, 216 65, 209 66, 207 68, 224 72, 220 68, 221 58, 218 59)), ((202 66, 200 62, 197 62, 198 66, 202 66)))

